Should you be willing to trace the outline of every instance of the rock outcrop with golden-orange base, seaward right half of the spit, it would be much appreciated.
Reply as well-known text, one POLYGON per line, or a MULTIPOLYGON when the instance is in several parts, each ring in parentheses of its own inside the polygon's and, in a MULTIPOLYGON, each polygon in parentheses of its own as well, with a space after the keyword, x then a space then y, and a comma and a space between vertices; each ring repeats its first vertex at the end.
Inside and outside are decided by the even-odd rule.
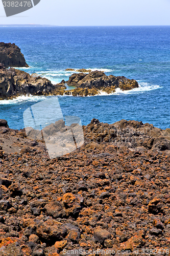
POLYGON ((124 76, 107 76, 102 71, 92 71, 89 74, 74 73, 69 77, 67 85, 77 87, 65 92, 65 94, 72 94, 73 96, 97 95, 101 91, 114 93, 116 88, 123 91, 138 88, 138 83, 134 79, 128 79, 124 76))

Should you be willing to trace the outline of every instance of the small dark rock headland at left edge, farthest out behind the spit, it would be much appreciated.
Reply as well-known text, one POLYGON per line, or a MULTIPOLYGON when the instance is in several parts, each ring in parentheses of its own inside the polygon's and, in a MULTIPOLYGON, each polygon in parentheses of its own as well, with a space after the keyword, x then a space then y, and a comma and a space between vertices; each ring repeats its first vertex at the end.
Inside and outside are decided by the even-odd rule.
POLYGON ((20 48, 15 44, 5 44, 0 42, 0 63, 6 68, 9 67, 29 67, 20 48))

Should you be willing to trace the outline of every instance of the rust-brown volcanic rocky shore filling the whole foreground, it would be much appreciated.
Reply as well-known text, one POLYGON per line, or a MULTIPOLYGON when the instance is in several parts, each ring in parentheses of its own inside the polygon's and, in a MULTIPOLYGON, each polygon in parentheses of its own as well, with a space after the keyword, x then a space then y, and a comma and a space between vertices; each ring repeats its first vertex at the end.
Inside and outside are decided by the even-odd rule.
POLYGON ((0 120, 0 255, 169 255, 170 129, 93 119, 83 131, 50 159, 0 120))

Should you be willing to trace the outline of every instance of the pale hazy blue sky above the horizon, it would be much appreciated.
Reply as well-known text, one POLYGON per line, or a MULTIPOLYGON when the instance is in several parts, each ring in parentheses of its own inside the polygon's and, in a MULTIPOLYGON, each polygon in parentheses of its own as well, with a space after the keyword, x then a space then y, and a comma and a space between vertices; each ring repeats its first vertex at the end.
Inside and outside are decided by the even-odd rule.
POLYGON ((41 0, 32 9, 11 17, 6 17, 1 1, 0 24, 170 25, 170 0, 41 0))

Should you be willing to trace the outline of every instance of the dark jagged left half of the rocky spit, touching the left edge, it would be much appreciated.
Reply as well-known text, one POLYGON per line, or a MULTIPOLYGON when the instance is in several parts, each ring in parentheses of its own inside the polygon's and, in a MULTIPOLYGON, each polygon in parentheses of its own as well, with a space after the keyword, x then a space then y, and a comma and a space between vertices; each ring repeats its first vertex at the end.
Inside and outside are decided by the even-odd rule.
MULTIPOLYGON (((6 69, 0 64, 0 99, 12 99, 20 95, 56 95, 66 89, 64 84, 54 86, 50 80, 35 77, 25 71, 6 69)), ((64 92, 64 91, 63 91, 64 92)))

